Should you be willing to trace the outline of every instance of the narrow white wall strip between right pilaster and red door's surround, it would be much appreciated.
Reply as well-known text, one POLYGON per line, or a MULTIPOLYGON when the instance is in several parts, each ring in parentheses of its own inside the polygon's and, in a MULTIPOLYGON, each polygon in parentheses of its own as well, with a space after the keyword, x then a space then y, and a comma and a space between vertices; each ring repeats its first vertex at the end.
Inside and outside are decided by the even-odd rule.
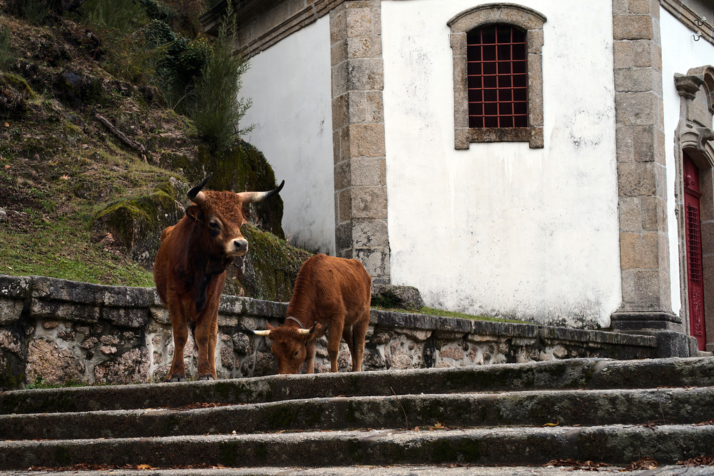
MULTIPOLYGON (((672 279, 672 310, 679 314, 680 295, 679 238, 675 208, 675 130, 679 123, 680 96, 674 86, 674 74, 687 74, 692 68, 714 64, 714 46, 706 41, 694 41, 693 31, 660 8, 662 36, 662 88, 665 123, 665 161, 667 164, 667 218, 670 243, 670 276, 672 279)), ((710 125, 710 127, 714 127, 710 125)))

